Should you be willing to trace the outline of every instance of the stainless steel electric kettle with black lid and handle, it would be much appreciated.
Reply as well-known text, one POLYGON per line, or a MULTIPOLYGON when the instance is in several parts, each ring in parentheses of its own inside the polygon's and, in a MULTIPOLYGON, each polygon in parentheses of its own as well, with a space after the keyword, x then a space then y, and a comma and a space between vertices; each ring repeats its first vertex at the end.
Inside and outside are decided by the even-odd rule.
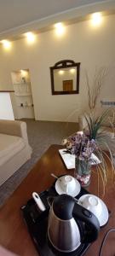
POLYGON ((60 252, 70 253, 85 242, 95 241, 100 230, 92 212, 78 205, 70 195, 55 197, 48 222, 49 241, 60 252))

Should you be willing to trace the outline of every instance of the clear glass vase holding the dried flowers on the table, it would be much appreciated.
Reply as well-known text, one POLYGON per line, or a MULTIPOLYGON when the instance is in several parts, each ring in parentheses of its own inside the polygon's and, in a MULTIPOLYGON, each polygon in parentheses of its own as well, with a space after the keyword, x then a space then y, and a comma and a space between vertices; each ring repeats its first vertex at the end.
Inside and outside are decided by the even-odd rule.
POLYGON ((75 174, 76 177, 83 187, 89 186, 90 183, 91 166, 89 160, 79 160, 75 157, 75 174))

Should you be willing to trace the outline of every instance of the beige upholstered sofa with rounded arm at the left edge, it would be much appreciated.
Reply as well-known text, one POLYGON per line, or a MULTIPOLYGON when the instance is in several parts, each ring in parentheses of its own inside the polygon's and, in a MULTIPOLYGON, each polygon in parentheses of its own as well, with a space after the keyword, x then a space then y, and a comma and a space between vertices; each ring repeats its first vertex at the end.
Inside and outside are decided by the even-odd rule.
POLYGON ((31 158, 26 123, 0 120, 0 185, 31 158))

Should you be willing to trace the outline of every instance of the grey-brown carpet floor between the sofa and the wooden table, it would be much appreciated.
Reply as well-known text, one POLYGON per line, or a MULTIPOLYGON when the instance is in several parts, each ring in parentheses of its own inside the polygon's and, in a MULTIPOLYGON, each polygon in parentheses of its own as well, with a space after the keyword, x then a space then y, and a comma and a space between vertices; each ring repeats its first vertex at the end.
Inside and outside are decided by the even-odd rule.
POLYGON ((9 198, 21 181, 31 171, 32 166, 41 157, 51 144, 61 144, 64 137, 78 131, 77 123, 35 121, 25 119, 29 143, 32 146, 32 159, 21 166, 12 177, 0 187, 0 206, 9 198))

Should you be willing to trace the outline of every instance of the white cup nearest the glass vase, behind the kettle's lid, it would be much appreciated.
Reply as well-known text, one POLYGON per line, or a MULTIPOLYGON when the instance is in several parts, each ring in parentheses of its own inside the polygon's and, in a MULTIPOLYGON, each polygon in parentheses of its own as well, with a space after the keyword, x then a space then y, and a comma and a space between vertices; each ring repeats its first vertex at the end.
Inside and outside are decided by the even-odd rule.
POLYGON ((71 194, 76 187, 75 178, 71 175, 61 177, 60 186, 66 194, 71 194))

